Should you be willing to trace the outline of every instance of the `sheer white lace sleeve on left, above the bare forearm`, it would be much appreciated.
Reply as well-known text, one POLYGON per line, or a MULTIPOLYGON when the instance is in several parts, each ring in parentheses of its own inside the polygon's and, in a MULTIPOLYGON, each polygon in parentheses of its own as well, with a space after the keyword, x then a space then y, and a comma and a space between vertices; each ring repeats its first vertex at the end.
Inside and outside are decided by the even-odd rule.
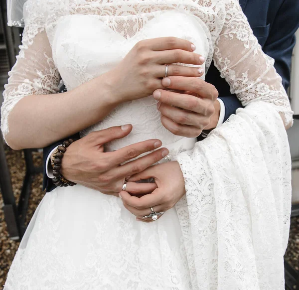
MULTIPOLYGON (((32 23, 31 23, 32 24, 32 23)), ((9 132, 8 117, 16 103, 28 95, 46 95, 58 92, 60 75, 52 59, 52 50, 44 28, 27 25, 16 63, 8 73, 1 107, 3 137, 9 132)))

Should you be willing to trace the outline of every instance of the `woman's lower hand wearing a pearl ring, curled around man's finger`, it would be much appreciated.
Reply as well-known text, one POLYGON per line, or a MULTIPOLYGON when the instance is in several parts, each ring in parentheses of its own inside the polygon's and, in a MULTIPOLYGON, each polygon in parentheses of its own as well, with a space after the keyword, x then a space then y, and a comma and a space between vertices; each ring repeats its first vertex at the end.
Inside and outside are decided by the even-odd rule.
MULTIPOLYGON (((129 180, 139 181, 153 177, 157 188, 150 194, 142 197, 135 196, 132 192, 119 193, 124 206, 137 217, 137 220, 152 222, 149 215, 152 207, 155 212, 167 211, 172 208, 185 194, 185 182, 178 162, 171 161, 149 167, 143 172, 135 174, 129 180)), ((139 184, 139 183, 138 183, 139 184)), ((128 190, 129 191, 129 190, 128 190)), ((136 195, 140 194, 137 193, 136 195)), ((158 218, 160 218, 158 216, 158 218)))

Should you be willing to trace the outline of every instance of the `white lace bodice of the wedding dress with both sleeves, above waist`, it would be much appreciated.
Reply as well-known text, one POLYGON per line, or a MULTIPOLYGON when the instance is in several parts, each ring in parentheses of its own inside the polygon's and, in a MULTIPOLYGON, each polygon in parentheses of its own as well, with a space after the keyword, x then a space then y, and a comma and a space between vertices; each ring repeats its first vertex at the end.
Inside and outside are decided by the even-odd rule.
MULTIPOLYGON (((213 59, 243 105, 269 102, 286 126, 292 122, 274 61, 262 52, 237 0, 28 0, 24 11, 22 46, 3 94, 4 137, 21 98, 56 93, 60 78, 71 90, 117 65, 139 40, 158 36, 193 41, 206 70, 213 59)), ((154 105, 151 97, 123 104, 82 135, 128 122, 135 131, 126 144, 141 141, 139 134, 143 140, 164 136, 164 144, 179 140, 160 125, 154 105)))

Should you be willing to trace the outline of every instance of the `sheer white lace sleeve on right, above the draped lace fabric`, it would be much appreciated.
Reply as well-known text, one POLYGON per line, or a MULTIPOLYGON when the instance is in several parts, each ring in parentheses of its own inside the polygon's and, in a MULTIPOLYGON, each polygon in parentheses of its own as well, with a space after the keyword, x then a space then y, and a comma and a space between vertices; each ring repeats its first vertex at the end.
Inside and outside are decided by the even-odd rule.
POLYGON ((262 51, 239 1, 225 2, 225 22, 215 43, 215 66, 243 106, 258 100, 270 103, 280 113, 285 127, 290 127, 293 112, 274 60, 262 51))

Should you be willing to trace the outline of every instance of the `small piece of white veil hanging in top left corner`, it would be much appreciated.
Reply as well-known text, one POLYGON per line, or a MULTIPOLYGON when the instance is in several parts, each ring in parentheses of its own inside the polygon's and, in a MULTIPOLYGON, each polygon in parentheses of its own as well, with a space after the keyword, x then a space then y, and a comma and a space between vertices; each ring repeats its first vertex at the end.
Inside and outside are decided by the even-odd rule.
POLYGON ((7 25, 24 26, 23 7, 27 0, 7 0, 7 25))

